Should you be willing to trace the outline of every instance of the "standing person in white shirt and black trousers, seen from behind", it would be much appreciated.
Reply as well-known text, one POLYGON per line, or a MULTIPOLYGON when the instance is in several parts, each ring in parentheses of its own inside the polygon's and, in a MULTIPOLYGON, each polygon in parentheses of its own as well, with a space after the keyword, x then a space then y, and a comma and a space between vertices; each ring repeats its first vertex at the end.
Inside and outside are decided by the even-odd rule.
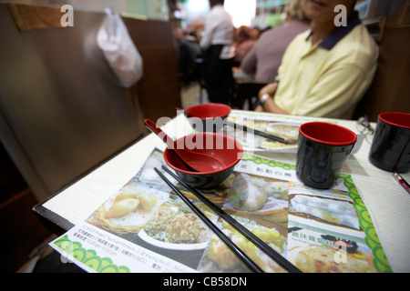
POLYGON ((210 13, 205 20, 200 46, 204 50, 204 80, 210 102, 229 104, 235 27, 223 4, 224 0, 210 0, 210 13))

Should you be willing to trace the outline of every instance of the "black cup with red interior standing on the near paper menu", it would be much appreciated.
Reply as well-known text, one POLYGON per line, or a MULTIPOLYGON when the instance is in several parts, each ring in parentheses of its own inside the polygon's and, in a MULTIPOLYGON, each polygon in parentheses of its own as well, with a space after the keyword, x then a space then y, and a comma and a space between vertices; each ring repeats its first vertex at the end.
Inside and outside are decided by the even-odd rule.
POLYGON ((301 125, 296 175, 306 186, 333 187, 356 140, 357 135, 341 125, 323 122, 301 125))

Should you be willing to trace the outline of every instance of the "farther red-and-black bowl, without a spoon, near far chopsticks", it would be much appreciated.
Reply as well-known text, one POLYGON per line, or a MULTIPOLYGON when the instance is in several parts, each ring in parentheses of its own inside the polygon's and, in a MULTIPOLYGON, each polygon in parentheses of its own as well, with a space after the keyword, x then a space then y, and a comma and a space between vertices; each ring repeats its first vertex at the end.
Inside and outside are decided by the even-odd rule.
POLYGON ((217 132, 231 113, 231 107, 220 103, 193 105, 185 109, 190 125, 198 132, 217 132))

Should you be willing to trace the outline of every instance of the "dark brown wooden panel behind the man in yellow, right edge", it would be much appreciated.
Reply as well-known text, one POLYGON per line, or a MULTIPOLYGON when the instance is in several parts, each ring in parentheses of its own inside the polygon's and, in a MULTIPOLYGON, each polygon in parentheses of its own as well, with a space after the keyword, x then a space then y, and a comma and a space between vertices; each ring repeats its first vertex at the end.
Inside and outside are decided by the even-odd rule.
POLYGON ((357 105, 355 118, 387 111, 410 112, 410 0, 364 0, 364 23, 378 41, 380 56, 373 84, 357 105))

